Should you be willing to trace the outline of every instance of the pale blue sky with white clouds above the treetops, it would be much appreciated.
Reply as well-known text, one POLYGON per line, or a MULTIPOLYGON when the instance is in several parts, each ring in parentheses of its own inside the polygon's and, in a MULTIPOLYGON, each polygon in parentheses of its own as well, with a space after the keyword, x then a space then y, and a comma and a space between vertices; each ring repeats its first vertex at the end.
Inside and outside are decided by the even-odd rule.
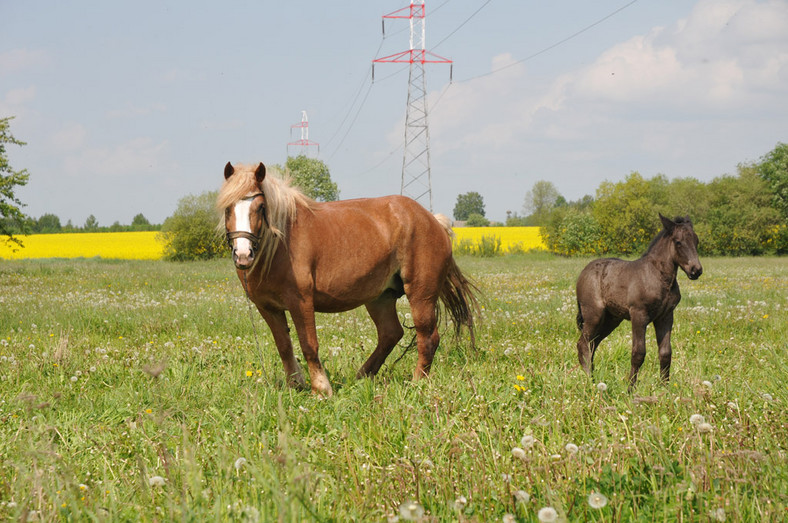
MULTIPOLYGON (((381 35, 406 5, 0 0, 25 212, 161 222, 227 161, 283 164, 303 110, 342 198, 398 193, 407 66, 376 66, 374 83, 370 66, 408 48, 406 21, 381 35)), ((435 212, 477 191, 503 220, 538 180, 570 200, 635 170, 708 181, 788 141, 786 0, 426 9, 427 49, 454 61, 452 83, 427 68, 435 212)))

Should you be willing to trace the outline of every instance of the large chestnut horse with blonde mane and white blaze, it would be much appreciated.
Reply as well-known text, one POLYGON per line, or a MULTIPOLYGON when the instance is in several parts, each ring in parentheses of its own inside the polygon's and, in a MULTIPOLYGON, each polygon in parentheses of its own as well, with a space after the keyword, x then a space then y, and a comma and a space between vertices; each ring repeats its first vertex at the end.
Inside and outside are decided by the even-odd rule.
POLYGON ((318 357, 315 312, 364 305, 378 343, 357 376, 374 376, 403 335, 397 299, 407 296, 416 329, 414 379, 427 376, 438 348, 438 301, 473 339, 475 287, 451 253, 448 220, 402 196, 315 202, 265 166, 224 169, 217 206, 238 277, 271 329, 288 383, 306 387, 285 311, 295 324, 312 391, 330 396, 318 357))

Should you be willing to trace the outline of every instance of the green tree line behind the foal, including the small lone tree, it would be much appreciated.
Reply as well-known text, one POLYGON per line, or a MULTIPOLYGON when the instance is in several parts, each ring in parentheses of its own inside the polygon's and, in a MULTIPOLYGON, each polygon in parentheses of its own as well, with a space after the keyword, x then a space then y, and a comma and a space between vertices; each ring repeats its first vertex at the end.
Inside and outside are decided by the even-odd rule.
MULTIPOLYGON (((538 181, 525 197, 524 216, 507 212, 507 226, 539 226, 547 248, 565 256, 634 255, 660 230, 659 213, 689 216, 704 255, 788 253, 788 144, 760 161, 740 164, 735 175, 705 183, 630 173, 603 182, 595 196, 567 201, 552 182, 538 181)), ((489 225, 476 192, 457 197, 454 217, 489 225)))

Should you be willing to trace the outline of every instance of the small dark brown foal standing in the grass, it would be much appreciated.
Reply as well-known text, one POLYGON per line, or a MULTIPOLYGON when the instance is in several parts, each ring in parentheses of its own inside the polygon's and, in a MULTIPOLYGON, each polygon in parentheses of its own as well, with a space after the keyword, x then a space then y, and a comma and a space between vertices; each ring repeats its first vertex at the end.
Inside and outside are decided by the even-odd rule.
POLYGON ((632 322, 632 368, 629 388, 646 358, 646 327, 654 323, 662 379, 670 378, 670 331, 673 310, 681 300, 676 281, 681 267, 690 280, 703 272, 698 236, 689 216, 671 221, 661 214, 663 229, 646 254, 634 261, 604 258, 589 263, 577 279, 577 354, 590 375, 599 344, 624 320, 632 322))

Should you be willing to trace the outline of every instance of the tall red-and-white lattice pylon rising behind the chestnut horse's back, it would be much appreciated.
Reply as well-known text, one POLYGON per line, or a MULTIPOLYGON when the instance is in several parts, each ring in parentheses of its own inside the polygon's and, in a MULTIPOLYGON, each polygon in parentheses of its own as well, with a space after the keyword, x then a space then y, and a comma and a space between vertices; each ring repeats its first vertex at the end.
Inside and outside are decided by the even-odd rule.
POLYGON ((451 64, 448 58, 425 49, 424 0, 411 2, 393 13, 383 16, 383 34, 386 18, 410 20, 410 49, 378 58, 372 62, 372 79, 376 63, 410 64, 408 79, 408 105, 405 116, 405 151, 402 156, 402 186, 400 193, 410 196, 432 212, 432 174, 430 172, 430 130, 427 125, 427 87, 424 64, 451 64), (425 203, 426 202, 426 203, 425 203))

